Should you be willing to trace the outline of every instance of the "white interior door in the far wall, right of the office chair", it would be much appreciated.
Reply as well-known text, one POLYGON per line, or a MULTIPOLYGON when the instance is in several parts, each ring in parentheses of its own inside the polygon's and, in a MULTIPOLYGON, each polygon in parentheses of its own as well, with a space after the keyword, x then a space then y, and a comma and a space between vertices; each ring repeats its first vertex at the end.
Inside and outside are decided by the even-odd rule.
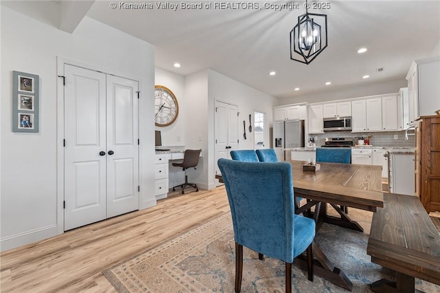
POLYGON ((215 102, 215 171, 220 173, 217 161, 230 159, 230 151, 239 148, 239 107, 215 102))

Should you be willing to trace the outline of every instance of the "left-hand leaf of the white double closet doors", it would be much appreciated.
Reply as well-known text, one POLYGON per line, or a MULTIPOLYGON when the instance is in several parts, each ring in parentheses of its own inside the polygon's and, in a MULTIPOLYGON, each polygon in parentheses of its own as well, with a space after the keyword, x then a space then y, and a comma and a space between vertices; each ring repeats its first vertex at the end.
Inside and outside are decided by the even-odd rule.
POLYGON ((105 74, 65 65, 65 230, 107 216, 105 83, 105 74))

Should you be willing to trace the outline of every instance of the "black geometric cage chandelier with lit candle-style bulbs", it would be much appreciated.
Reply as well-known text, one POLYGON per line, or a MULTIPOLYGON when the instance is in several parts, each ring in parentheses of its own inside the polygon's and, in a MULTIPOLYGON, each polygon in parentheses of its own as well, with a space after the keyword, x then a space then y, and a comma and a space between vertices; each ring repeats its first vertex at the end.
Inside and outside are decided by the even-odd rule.
POLYGON ((305 1, 305 14, 290 31, 290 58, 309 64, 327 47, 327 15, 309 13, 305 1))

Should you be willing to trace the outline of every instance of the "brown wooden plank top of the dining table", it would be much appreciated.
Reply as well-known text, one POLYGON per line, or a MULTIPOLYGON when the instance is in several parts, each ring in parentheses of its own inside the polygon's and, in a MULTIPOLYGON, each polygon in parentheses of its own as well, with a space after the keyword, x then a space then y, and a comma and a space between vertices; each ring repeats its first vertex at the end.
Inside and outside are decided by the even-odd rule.
POLYGON ((303 171, 302 161, 289 162, 295 195, 371 211, 384 206, 381 166, 320 163, 314 172, 303 171))

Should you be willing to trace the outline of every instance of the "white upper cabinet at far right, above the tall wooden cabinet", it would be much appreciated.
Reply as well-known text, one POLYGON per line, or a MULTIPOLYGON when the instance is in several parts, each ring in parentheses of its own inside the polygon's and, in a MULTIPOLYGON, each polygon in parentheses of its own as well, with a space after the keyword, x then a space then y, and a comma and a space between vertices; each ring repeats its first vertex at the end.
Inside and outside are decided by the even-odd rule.
POLYGON ((440 109, 440 56, 412 62, 406 75, 410 123, 440 109))

